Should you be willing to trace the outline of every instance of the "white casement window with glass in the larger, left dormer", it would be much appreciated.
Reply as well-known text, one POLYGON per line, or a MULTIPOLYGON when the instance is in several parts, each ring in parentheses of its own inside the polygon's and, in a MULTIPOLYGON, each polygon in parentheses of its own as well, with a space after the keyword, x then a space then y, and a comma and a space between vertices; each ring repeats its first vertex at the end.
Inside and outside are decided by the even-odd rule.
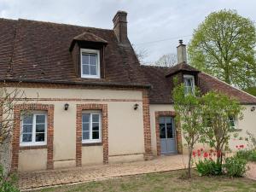
POLYGON ((100 79, 100 51, 80 49, 81 78, 100 79))

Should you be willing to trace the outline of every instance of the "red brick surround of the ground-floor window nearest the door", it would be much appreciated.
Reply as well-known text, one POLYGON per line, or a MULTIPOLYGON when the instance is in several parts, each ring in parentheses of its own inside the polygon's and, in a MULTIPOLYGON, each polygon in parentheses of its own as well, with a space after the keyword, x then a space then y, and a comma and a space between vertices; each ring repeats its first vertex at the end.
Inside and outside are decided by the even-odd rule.
POLYGON ((102 146, 103 163, 108 164, 108 105, 107 104, 77 104, 76 118, 76 166, 82 166, 82 111, 102 111, 102 146))

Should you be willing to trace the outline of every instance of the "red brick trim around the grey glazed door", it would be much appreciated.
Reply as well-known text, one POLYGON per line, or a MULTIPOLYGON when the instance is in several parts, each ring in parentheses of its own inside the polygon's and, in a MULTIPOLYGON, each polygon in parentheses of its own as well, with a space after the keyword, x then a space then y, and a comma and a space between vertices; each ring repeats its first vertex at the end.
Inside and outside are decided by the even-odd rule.
MULTIPOLYGON (((159 119, 162 116, 175 117, 175 112, 174 111, 156 111, 154 113, 154 116, 155 116, 156 151, 157 151, 157 155, 159 156, 161 154, 159 119)), ((177 154, 182 154, 183 145, 182 145, 182 135, 181 135, 180 124, 176 124, 175 130, 176 130, 177 154)))

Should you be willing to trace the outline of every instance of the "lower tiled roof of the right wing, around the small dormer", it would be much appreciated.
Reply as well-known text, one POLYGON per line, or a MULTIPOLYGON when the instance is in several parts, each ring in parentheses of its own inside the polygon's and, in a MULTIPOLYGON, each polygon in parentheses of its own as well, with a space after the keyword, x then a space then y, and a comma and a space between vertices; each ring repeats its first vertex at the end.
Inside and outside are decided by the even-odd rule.
MULTIPOLYGON (((186 64, 189 66, 188 64, 186 64)), ((166 72, 172 71, 174 67, 154 67, 142 66, 143 71, 148 79, 148 84, 152 85, 149 99, 150 103, 173 103, 172 89, 173 82, 171 78, 166 78, 166 72)), ((235 97, 243 104, 256 104, 256 97, 247 94, 242 90, 237 90, 230 84, 226 84, 207 73, 198 73, 199 88, 203 93, 209 90, 218 90, 228 96, 235 97)))

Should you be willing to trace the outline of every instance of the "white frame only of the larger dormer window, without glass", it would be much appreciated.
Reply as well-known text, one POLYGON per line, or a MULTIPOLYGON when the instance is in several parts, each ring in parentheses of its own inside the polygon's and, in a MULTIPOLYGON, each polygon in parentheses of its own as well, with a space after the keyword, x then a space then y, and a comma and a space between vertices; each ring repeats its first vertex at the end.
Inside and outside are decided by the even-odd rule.
POLYGON ((97 49, 80 49, 80 71, 81 78, 86 79, 100 79, 101 78, 101 63, 100 63, 100 50, 97 49), (83 53, 84 54, 96 54, 97 64, 96 64, 96 75, 86 75, 83 74, 83 53))

